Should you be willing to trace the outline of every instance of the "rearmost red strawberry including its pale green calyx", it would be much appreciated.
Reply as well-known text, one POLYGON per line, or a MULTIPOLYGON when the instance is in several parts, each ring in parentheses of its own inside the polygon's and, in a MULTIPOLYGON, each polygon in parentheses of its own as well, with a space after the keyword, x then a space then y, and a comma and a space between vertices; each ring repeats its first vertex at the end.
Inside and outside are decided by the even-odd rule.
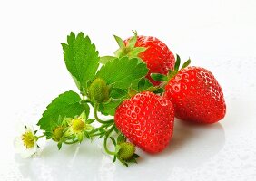
POLYGON ((153 85, 159 85, 160 81, 153 81, 151 73, 161 73, 166 75, 168 70, 172 70, 175 58, 165 43, 152 36, 137 36, 134 33, 132 38, 121 42, 122 39, 115 36, 120 45, 120 49, 115 52, 117 57, 130 56, 139 57, 147 64, 149 72, 146 76, 153 85))

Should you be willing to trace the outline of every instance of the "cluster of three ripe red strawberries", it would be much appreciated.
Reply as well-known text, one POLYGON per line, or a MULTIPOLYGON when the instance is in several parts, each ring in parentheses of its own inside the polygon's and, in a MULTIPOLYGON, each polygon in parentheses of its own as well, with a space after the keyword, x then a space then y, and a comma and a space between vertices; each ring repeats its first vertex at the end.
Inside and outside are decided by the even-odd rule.
POLYGON ((138 93, 115 112, 116 127, 136 146, 149 153, 166 148, 172 139, 174 117, 200 124, 224 118, 222 88, 211 71, 189 66, 190 60, 179 70, 180 57, 175 61, 169 48, 155 37, 138 36, 134 47, 145 48, 137 56, 147 64, 147 78, 164 89, 161 95, 138 93))

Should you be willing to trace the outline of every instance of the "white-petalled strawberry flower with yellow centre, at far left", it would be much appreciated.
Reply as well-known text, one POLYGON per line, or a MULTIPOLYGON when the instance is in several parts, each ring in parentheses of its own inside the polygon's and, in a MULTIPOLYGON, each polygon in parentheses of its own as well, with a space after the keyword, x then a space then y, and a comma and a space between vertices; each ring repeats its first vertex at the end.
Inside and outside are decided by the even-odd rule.
POLYGON ((37 151, 37 137, 32 126, 23 126, 18 128, 18 136, 15 138, 15 151, 21 157, 31 157, 37 151))

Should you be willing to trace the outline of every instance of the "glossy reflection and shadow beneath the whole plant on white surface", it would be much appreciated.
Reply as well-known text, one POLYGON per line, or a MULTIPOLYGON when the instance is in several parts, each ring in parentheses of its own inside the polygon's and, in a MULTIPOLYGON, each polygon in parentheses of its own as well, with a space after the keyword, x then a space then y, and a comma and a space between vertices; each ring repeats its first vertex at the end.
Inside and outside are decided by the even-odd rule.
POLYGON ((100 141, 67 146, 60 151, 54 143, 49 143, 40 157, 22 159, 16 155, 15 161, 22 176, 30 180, 129 180, 133 179, 132 175, 123 176, 130 172, 141 179, 144 175, 140 173, 152 180, 159 176, 166 180, 173 167, 194 169, 201 166, 222 149, 224 141, 224 130, 219 123, 199 126, 176 120, 170 146, 158 155, 139 150, 142 158, 138 165, 123 167, 113 164, 112 157, 106 156, 99 148, 100 141))

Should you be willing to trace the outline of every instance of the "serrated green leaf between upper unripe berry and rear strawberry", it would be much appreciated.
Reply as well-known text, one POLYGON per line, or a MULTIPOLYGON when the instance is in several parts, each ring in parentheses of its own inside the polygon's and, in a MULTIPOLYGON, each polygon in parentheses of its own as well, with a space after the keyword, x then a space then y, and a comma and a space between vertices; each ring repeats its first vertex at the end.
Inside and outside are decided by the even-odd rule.
POLYGON ((107 62, 98 71, 96 77, 102 78, 107 84, 113 87, 127 90, 134 80, 143 78, 148 72, 144 63, 138 63, 136 58, 117 58, 107 62))

